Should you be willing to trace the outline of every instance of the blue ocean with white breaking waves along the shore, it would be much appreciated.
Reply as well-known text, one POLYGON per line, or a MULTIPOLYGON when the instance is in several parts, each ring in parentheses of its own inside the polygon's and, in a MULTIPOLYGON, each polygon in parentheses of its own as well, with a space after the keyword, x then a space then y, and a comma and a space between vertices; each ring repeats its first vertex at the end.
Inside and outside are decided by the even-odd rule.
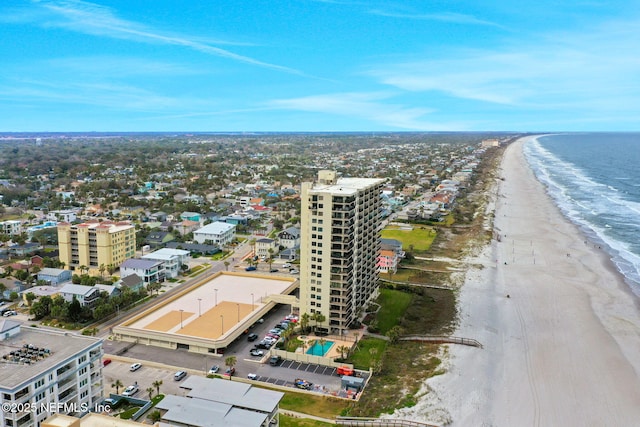
POLYGON ((524 154, 565 217, 640 297, 640 133, 545 135, 524 154))

